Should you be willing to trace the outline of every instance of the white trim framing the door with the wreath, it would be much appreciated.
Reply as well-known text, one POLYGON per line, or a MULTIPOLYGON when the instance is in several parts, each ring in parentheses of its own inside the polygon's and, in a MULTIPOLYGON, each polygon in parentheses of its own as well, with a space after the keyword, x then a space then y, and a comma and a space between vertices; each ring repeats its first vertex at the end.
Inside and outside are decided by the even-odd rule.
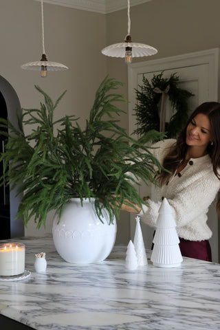
POLYGON ((202 65, 208 63, 209 65, 209 80, 210 86, 213 86, 210 100, 219 100, 219 48, 212 50, 203 50, 201 52, 193 52, 179 56, 171 56, 166 58, 159 58, 157 60, 144 61, 133 63, 128 67, 128 88, 129 88, 129 133, 133 132, 133 109, 135 108, 136 95, 135 88, 137 88, 137 74, 165 71, 168 69, 176 69, 179 67, 190 67, 193 65, 202 65), (214 83, 213 83, 214 82, 214 83))

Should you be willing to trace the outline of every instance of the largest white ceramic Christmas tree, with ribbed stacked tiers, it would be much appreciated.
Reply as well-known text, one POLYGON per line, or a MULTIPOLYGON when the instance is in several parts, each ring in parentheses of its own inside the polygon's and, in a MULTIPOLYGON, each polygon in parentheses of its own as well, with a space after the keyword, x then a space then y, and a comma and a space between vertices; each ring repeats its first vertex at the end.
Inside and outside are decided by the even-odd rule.
POLYGON ((173 210, 166 198, 162 201, 153 239, 151 261, 157 267, 178 267, 183 261, 179 249, 179 237, 175 229, 173 210))

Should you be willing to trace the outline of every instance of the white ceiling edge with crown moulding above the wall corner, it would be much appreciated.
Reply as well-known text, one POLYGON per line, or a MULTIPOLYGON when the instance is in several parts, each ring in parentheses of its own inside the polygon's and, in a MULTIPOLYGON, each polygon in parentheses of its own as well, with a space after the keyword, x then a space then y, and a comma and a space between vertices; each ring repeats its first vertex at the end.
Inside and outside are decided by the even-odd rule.
MULTIPOLYGON (((152 0, 130 0, 130 5, 132 7, 148 1, 152 0)), ((100 12, 102 14, 109 14, 110 12, 127 8, 127 0, 43 0, 43 2, 80 10, 89 10, 90 12, 100 12)))

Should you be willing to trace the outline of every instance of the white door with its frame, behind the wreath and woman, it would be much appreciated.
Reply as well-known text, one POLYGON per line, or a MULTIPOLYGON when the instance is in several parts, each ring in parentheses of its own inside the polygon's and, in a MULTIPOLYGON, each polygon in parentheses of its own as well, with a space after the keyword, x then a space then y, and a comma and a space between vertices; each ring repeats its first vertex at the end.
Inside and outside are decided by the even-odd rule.
MULTIPOLYGON (((211 50, 212 55, 210 56, 210 61, 207 61, 207 52, 196 53, 198 55, 198 63, 195 61, 195 56, 192 54, 185 55, 185 58, 179 58, 175 56, 173 58, 164 58, 157 61, 146 61, 145 63, 135 63, 133 67, 129 67, 129 100, 131 102, 129 109, 129 131, 132 133, 135 129, 135 116, 133 115, 133 109, 135 108, 135 93, 134 89, 140 89, 142 85, 143 74, 151 81, 153 75, 157 75, 160 72, 164 71, 164 78, 170 78, 171 74, 176 73, 179 77, 179 87, 182 89, 187 89, 194 96, 188 99, 189 113, 191 113, 199 104, 209 100, 217 101, 217 65, 219 58, 219 50, 211 50), (202 53, 202 54, 201 54, 202 53), (205 53, 205 54, 204 54, 205 53), (201 61, 201 55, 205 58, 201 61), (190 65, 188 58, 193 57, 193 61, 190 65), (172 61, 173 60, 173 61, 172 61), (213 63, 214 61, 214 63, 213 63), (151 63, 153 63, 151 65, 151 63), (169 64, 168 64, 169 63, 169 64), (136 67, 135 67, 136 65, 136 67), (214 70, 214 67, 216 71, 214 70), (216 74, 213 74, 216 72, 216 74)), ((194 53, 195 54, 195 53, 194 53)), ((166 102, 166 118, 170 118, 173 114, 173 110, 170 107, 170 101, 167 99, 166 102)), ((151 188, 146 187, 145 185, 140 186, 140 196, 150 196, 151 197, 151 188)), ((208 225, 212 230, 212 239, 210 239, 210 245, 212 247, 212 259, 215 262, 218 262, 218 219, 215 211, 214 203, 210 207, 208 212, 208 225)), ((131 215, 131 239, 133 239, 133 234, 135 231, 135 220, 134 216, 131 215)), ((150 228, 148 225, 142 223, 142 233, 144 236, 144 243, 146 248, 151 248, 152 239, 153 239, 153 228, 150 228)))

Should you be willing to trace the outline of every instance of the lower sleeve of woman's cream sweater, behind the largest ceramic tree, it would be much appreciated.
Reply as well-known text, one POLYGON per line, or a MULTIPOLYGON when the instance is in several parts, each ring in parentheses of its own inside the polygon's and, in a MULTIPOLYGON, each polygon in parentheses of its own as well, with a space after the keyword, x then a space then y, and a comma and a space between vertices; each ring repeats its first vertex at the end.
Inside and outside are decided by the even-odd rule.
MULTIPOLYGON (((202 179, 195 179, 192 184, 179 190, 175 198, 167 199, 173 209, 177 228, 188 225, 200 214, 206 214, 219 188, 219 179, 214 174, 207 173, 202 179)), ((148 199, 147 203, 148 209, 140 216, 144 223, 155 227, 162 202, 148 199)))

